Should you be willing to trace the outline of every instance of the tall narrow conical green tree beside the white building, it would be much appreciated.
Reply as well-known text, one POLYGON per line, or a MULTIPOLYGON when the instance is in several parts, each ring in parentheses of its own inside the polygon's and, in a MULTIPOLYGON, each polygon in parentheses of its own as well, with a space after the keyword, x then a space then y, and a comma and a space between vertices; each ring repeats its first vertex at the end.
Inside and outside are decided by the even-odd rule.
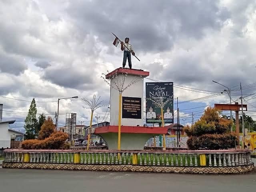
POLYGON ((33 98, 30 108, 28 110, 28 115, 25 119, 24 128, 26 129, 26 139, 34 139, 36 136, 36 128, 38 128, 38 121, 36 119, 36 101, 33 98))

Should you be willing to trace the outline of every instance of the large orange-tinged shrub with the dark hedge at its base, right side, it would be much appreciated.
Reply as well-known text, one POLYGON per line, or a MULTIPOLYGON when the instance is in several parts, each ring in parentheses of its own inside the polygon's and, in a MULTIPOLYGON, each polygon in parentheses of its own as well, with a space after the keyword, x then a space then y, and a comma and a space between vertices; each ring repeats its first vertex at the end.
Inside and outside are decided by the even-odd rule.
POLYGON ((188 148, 191 150, 234 148, 237 138, 235 133, 230 133, 231 127, 232 121, 221 118, 220 111, 207 108, 194 125, 185 128, 189 136, 188 148))

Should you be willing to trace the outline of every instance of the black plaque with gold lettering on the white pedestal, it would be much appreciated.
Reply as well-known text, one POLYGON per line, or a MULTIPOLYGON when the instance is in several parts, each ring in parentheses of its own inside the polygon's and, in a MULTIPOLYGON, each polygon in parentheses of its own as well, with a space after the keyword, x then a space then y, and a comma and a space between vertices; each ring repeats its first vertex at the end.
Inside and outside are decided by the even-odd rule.
POLYGON ((122 118, 141 119, 140 97, 122 97, 122 118))

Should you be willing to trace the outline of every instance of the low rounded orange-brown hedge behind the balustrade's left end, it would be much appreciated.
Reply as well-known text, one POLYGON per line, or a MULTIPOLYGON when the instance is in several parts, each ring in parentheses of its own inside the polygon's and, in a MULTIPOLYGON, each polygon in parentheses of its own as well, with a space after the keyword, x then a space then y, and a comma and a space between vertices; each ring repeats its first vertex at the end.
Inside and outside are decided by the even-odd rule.
POLYGON ((30 139, 22 142, 23 149, 68 149, 69 144, 65 141, 68 134, 63 132, 54 132, 50 137, 44 140, 30 139))

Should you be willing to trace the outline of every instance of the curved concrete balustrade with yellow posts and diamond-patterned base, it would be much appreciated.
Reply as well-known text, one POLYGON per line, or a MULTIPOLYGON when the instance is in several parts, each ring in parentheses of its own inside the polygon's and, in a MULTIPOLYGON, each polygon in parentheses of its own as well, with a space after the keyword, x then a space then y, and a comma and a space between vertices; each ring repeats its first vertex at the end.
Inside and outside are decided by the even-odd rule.
POLYGON ((115 151, 5 150, 3 168, 244 173, 254 168, 250 150, 115 151))

